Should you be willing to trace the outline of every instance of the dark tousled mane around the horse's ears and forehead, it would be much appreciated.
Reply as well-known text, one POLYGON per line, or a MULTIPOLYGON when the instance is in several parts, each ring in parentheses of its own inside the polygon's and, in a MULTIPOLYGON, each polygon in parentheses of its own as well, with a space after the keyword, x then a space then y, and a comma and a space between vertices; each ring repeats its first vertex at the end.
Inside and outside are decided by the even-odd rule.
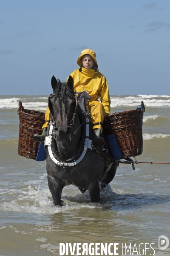
POLYGON ((54 88, 53 93, 62 101, 65 101, 66 95, 75 98, 73 87, 69 86, 66 82, 61 82, 60 79, 57 79, 57 86, 54 88))

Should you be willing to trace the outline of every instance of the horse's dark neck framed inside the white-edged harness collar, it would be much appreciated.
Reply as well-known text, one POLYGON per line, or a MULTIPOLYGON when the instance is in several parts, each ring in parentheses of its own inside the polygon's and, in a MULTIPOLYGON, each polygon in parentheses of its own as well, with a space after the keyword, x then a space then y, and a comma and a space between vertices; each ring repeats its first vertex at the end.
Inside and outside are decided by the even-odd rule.
MULTIPOLYGON (((74 122, 74 125, 72 125, 71 127, 71 135, 74 133, 74 131, 76 131, 79 125, 80 125, 80 122, 77 116, 77 119, 74 122)), ((80 142, 80 136, 81 136, 81 128, 77 131, 77 133, 75 134, 74 137, 72 137, 71 140, 67 140, 67 141, 56 140, 58 154, 62 159, 70 159, 74 157, 80 142)))

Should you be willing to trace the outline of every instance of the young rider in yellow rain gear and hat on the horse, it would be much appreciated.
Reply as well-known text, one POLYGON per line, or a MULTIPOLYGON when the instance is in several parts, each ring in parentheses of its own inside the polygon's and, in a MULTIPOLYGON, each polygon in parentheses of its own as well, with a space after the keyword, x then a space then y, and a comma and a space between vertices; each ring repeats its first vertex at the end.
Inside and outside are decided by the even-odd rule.
MULTIPOLYGON (((74 91, 87 91, 91 96, 89 100, 89 108, 91 112, 91 122, 93 123, 94 143, 103 145, 103 139, 100 137, 102 133, 102 122, 105 115, 110 113, 111 100, 109 96, 108 83, 99 70, 96 61, 96 53, 91 49, 85 49, 79 55, 77 60, 79 68, 74 70, 70 76, 74 80, 74 91), (100 102, 98 99, 100 98, 100 102)), ((45 113, 45 124, 42 126, 42 134, 34 135, 34 140, 44 141, 47 135, 47 127, 50 120, 50 110, 47 108, 45 113)))

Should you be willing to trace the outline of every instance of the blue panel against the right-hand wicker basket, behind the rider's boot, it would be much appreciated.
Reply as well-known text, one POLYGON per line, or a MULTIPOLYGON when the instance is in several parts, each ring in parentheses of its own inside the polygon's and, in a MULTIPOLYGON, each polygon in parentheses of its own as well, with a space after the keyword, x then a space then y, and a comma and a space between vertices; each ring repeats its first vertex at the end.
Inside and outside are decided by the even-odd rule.
POLYGON ((114 134, 106 135, 106 140, 107 140, 107 143, 108 143, 108 146, 109 146, 111 156, 115 160, 122 158, 122 155, 119 151, 119 148, 118 148, 118 145, 117 145, 117 142, 116 142, 115 135, 114 134))

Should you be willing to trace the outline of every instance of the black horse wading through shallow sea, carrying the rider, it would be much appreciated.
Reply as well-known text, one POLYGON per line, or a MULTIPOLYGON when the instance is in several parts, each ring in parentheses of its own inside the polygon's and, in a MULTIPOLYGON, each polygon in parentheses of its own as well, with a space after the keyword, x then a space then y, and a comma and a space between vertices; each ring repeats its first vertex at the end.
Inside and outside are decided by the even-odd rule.
MULTIPOLYGON (((51 79, 53 94, 49 97, 51 118, 54 121, 54 137, 58 156, 63 160, 73 158, 77 154, 81 138, 76 98, 73 90, 73 79, 70 76, 67 83, 62 83, 53 76, 51 79), (74 117, 74 118, 73 118, 74 117)), ((58 166, 47 152, 48 186, 53 197, 54 205, 62 206, 62 189, 70 184, 79 188, 83 193, 90 193, 92 202, 99 202, 99 180, 108 184, 113 180, 117 164, 113 163, 107 175, 101 178, 108 162, 99 154, 88 149, 83 160, 75 166, 58 166)))

